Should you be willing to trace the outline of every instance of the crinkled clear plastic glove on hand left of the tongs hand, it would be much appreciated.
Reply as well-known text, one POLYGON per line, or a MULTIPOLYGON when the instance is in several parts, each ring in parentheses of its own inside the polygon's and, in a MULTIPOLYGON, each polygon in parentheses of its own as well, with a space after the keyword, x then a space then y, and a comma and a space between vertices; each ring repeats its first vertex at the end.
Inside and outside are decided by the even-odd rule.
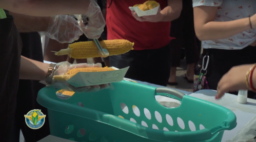
POLYGON ((73 43, 83 34, 74 17, 56 15, 51 18, 47 30, 39 32, 41 36, 46 35, 60 43, 73 43))

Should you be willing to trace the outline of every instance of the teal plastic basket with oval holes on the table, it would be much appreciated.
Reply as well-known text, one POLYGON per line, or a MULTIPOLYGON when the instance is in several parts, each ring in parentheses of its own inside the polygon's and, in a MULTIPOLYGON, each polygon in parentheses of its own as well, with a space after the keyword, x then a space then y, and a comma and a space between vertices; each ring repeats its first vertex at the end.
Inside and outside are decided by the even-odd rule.
POLYGON ((55 92, 59 89, 41 89, 37 102, 48 108, 51 135, 74 141, 220 142, 224 130, 237 125, 229 109, 171 88, 124 80, 113 86, 99 92, 75 93, 69 99, 58 98, 55 92), (155 95, 178 99, 181 105, 166 108, 155 95), (133 112, 135 109, 139 111, 133 112))

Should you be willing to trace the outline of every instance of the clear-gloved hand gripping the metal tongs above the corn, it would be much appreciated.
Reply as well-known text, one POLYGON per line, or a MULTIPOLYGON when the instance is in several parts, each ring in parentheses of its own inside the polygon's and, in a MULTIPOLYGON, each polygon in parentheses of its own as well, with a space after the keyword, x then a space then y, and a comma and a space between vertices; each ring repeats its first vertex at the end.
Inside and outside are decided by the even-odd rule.
POLYGON ((106 25, 105 19, 103 17, 101 8, 94 0, 90 0, 91 3, 88 6, 88 10, 83 15, 75 15, 80 26, 81 31, 89 39, 98 39, 104 31, 106 25), (83 23, 83 19, 88 18, 87 25, 83 23))

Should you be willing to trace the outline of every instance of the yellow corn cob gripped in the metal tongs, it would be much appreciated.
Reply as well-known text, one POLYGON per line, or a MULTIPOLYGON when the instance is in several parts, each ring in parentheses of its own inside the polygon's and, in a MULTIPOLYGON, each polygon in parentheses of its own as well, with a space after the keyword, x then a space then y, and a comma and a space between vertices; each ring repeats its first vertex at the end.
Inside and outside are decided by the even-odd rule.
MULTIPOLYGON (((103 48, 108 50, 109 56, 124 54, 130 50, 133 50, 132 47, 134 45, 134 43, 131 43, 126 39, 102 40, 100 44, 103 48)), ((70 44, 67 49, 62 49, 55 52, 55 55, 69 55, 69 57, 75 59, 106 57, 101 55, 93 41, 70 44)))

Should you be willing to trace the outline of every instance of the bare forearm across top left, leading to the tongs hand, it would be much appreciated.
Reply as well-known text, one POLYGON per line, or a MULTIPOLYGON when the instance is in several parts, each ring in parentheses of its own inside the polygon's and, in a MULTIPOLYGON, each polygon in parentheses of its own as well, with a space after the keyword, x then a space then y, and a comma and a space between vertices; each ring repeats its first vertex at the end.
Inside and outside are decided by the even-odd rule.
POLYGON ((1 0, 3 9, 31 16, 85 14, 90 0, 1 0))

